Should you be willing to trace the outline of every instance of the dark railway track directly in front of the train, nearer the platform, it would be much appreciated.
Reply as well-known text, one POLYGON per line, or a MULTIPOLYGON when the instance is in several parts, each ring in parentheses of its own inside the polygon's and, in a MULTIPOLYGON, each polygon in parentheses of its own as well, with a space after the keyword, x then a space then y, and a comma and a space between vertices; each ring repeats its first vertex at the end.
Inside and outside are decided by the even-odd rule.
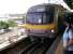
POLYGON ((52 45, 53 40, 46 40, 43 43, 36 42, 31 45, 27 51, 24 51, 21 54, 45 54, 47 49, 52 45))

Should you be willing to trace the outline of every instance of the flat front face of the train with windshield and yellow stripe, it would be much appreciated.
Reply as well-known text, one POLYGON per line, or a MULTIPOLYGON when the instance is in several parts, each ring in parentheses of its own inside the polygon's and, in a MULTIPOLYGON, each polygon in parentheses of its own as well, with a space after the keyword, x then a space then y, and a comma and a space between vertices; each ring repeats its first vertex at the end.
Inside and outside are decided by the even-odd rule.
POLYGON ((29 36, 53 38, 55 35, 55 8, 36 5, 27 13, 26 32, 29 36))

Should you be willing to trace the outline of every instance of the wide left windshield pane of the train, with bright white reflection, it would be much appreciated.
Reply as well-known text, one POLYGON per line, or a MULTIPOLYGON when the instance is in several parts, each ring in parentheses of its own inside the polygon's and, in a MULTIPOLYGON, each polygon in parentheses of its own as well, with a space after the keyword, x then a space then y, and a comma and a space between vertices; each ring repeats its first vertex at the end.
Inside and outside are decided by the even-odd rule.
POLYGON ((42 23, 42 14, 41 13, 28 13, 26 23, 41 24, 42 23))

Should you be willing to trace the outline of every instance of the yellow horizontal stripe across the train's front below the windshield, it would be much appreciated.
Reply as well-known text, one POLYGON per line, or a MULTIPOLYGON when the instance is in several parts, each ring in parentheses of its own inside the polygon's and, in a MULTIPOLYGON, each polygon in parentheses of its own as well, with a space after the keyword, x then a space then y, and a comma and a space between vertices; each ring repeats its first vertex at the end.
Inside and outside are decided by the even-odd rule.
POLYGON ((29 28, 29 29, 53 29, 53 28, 55 28, 55 24, 49 24, 49 25, 26 24, 25 27, 29 28))

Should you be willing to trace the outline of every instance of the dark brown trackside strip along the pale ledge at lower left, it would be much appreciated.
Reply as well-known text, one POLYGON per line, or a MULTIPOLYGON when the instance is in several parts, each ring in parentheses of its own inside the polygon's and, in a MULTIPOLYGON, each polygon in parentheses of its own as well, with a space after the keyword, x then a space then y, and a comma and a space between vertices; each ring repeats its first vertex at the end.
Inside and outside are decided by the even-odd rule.
POLYGON ((1 51, 0 54, 4 54, 4 53, 5 54, 18 54, 25 46, 27 46, 30 43, 31 43, 30 40, 28 38, 26 38, 25 40, 16 43, 16 44, 12 44, 8 49, 1 51))

